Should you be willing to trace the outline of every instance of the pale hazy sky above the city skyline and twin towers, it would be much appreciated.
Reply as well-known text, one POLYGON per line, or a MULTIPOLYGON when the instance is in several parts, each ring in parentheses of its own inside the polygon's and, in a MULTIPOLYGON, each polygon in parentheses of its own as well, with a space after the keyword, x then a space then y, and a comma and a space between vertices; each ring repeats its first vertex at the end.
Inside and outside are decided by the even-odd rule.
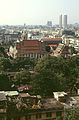
POLYGON ((0 25, 45 25, 59 23, 67 14, 68 23, 79 23, 79 0, 0 0, 0 25))

